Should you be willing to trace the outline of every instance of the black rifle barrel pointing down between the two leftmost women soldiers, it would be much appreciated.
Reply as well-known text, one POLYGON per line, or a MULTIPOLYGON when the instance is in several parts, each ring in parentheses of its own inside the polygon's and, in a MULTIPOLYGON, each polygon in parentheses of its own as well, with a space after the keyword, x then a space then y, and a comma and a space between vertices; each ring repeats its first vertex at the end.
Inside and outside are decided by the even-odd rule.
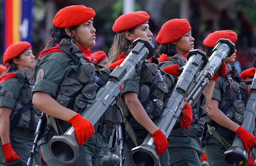
POLYGON ((35 150, 37 148, 38 141, 42 138, 45 125, 46 125, 46 114, 42 112, 41 117, 38 121, 38 126, 36 127, 36 130, 35 130, 35 139, 34 139, 33 147, 32 147, 32 150, 30 151, 30 157, 27 161, 26 166, 32 166, 35 150))

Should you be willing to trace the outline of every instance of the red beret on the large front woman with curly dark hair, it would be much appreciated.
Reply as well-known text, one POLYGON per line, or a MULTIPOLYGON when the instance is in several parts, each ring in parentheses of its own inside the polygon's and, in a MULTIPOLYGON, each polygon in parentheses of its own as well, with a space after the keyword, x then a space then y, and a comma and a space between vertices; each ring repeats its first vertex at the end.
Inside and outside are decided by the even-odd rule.
POLYGON ((84 5, 73 5, 62 8, 57 12, 52 23, 55 27, 66 28, 85 23, 95 16, 92 8, 84 5))

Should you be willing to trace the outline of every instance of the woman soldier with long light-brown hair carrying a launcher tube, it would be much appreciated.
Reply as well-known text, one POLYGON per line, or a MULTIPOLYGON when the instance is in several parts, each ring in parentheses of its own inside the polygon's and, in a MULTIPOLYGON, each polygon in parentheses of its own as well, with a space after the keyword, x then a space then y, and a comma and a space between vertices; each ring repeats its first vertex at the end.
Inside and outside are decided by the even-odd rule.
MULTIPOLYGON (((109 68, 114 68, 116 63, 119 64, 124 60, 132 50, 132 42, 135 39, 142 37, 151 41, 153 34, 149 30, 148 19, 149 15, 145 11, 123 14, 116 19, 112 28, 116 35, 109 52, 109 64, 114 63, 109 68)), ((143 142, 148 132, 150 132, 157 146, 157 155, 163 153, 160 155, 160 164, 169 166, 166 136, 163 135, 163 132, 158 129, 152 120, 160 115, 160 111, 163 109, 163 94, 172 89, 174 78, 170 77, 172 83, 168 84, 167 90, 167 85, 161 79, 162 75, 158 70, 158 66, 150 63, 149 60, 151 59, 146 59, 134 76, 125 84, 122 90, 122 98, 119 99, 118 104, 122 107, 126 121, 129 121, 133 127, 139 144, 143 142), (152 84, 155 85, 152 86, 152 84), (149 94, 151 88, 154 90, 152 94, 149 94), (150 101, 147 101, 147 98, 150 98, 150 101)), ((184 112, 186 111, 191 113, 189 104, 186 104, 184 108, 184 112)), ((128 126, 125 125, 125 127, 128 126)), ((135 147, 131 134, 128 133, 130 137, 125 143, 125 165, 133 165, 129 160, 131 149, 135 147)))

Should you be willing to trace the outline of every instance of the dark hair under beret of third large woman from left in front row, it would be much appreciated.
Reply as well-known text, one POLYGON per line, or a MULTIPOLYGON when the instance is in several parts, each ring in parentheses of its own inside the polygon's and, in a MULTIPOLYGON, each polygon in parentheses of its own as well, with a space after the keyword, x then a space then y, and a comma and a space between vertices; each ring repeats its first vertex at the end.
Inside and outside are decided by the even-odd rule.
POLYGON ((160 44, 156 50, 156 57, 160 57, 162 53, 167 54, 168 56, 174 56, 177 53, 175 45, 172 43, 160 44))

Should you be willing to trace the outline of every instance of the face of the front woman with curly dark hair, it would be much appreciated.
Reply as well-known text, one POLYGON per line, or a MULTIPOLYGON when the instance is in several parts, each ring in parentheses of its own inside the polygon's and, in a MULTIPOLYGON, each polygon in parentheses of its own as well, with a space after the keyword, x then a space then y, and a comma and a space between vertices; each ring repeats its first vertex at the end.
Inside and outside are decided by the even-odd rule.
POLYGON ((88 20, 85 23, 79 25, 79 29, 73 32, 76 37, 76 44, 82 46, 83 48, 91 48, 95 45, 95 28, 93 28, 93 20, 88 20))

